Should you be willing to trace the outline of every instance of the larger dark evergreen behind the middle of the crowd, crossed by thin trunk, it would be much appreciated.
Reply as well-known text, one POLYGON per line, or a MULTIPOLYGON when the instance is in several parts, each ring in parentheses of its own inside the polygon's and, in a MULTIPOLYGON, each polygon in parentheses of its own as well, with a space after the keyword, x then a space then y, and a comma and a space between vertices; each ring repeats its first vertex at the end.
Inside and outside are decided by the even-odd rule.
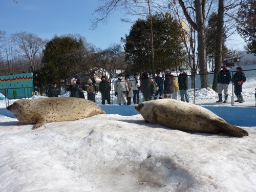
MULTIPOLYGON (((175 57, 182 57, 182 42, 178 35, 181 27, 172 17, 162 14, 152 16, 154 35, 155 70, 163 71, 175 67, 175 57)), ((126 59, 134 72, 153 72, 151 66, 150 20, 138 19, 132 26, 130 34, 122 39, 125 43, 126 59)))

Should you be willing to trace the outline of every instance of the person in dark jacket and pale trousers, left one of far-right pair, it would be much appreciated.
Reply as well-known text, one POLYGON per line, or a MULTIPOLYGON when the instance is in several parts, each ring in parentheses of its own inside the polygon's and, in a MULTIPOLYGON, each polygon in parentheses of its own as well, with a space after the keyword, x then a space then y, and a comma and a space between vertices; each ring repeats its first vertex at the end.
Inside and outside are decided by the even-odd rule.
POLYGON ((227 102, 227 98, 228 98, 228 84, 231 80, 231 75, 229 73, 229 70, 227 69, 226 65, 223 65, 222 70, 219 72, 218 74, 218 96, 219 96, 219 100, 216 101, 218 102, 222 102, 222 90, 224 92, 224 103, 227 102))

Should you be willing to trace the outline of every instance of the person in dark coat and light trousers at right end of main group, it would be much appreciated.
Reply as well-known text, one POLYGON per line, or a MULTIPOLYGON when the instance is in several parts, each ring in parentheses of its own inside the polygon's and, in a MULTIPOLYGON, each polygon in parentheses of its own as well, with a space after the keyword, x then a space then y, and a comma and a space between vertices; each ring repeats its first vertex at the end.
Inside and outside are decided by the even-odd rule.
POLYGON ((181 101, 189 102, 188 78, 187 78, 187 74, 183 69, 180 69, 180 74, 178 75, 178 83, 179 83, 181 101))

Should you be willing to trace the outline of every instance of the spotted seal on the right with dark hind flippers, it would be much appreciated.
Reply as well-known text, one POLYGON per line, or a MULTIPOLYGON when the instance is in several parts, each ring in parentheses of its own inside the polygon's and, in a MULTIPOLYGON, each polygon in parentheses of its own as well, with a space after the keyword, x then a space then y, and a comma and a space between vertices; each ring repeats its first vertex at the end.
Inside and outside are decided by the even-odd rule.
POLYGON ((181 131, 248 136, 248 132, 234 126, 202 106, 175 99, 145 101, 135 109, 151 123, 160 123, 181 131))

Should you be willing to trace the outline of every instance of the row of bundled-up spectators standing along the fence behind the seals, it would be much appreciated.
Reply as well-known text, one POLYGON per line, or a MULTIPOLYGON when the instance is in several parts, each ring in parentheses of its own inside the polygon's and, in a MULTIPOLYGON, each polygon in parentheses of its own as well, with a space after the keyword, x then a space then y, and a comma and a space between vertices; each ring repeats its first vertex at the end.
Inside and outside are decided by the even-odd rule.
MULTIPOLYGON (((143 101, 152 99, 178 99, 178 92, 180 99, 184 102, 189 102, 188 96, 188 75, 180 69, 180 74, 176 76, 170 70, 165 70, 164 77, 160 72, 156 73, 154 79, 148 76, 147 72, 143 72, 141 78, 137 73, 132 77, 129 75, 118 74, 118 78, 114 81, 114 95, 117 97, 117 104, 130 105, 140 103, 140 92, 143 95, 143 101)), ((242 84, 246 81, 243 69, 237 67, 237 72, 231 78, 230 72, 226 65, 223 65, 222 70, 218 74, 218 96, 219 100, 216 102, 227 102, 228 99, 228 85, 230 81, 234 84, 234 94, 237 100, 234 102, 244 102, 242 96, 242 84), (224 101, 222 99, 222 91, 224 93, 224 101)), ((51 83, 51 88, 48 90, 48 97, 58 97, 59 91, 56 88, 57 83, 51 83)), ((95 102, 95 95, 101 93, 101 104, 111 104, 111 82, 105 76, 101 77, 101 81, 96 86, 96 81, 89 79, 87 84, 83 84, 81 78, 72 78, 69 86, 66 88, 70 92, 70 97, 85 98, 84 93, 87 92, 87 99, 95 102)))

